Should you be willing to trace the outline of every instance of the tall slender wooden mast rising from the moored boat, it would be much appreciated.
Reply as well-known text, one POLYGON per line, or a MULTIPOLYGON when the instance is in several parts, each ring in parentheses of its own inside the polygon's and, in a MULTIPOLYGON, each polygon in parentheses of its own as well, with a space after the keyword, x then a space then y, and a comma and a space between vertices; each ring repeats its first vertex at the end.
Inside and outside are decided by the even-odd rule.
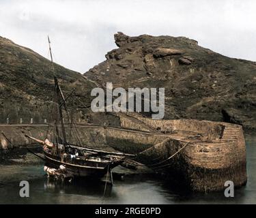
MULTIPOLYGON (((59 118, 60 118, 60 121, 61 121, 63 144, 66 146, 66 144, 67 144, 66 130, 65 130, 64 121, 63 121, 63 114, 62 114, 62 110, 61 110, 61 105, 62 105, 61 104, 61 99, 64 102, 65 102, 65 99, 63 99, 63 94, 62 94, 61 88, 59 87, 57 77, 55 76, 55 69, 54 69, 54 65, 53 65, 53 55, 52 55, 52 50, 51 50, 51 41, 50 41, 49 36, 48 36, 48 44, 49 44, 49 51, 50 51, 50 55, 51 55, 51 63, 52 63, 52 67, 53 67, 53 76, 54 76, 54 82, 55 82, 55 93, 56 93, 56 98, 57 98, 56 103, 58 104, 59 118)), ((58 130, 58 127, 57 127, 57 122, 55 122, 55 123, 56 123, 56 134, 57 134, 57 137, 59 138, 59 130, 58 130)))

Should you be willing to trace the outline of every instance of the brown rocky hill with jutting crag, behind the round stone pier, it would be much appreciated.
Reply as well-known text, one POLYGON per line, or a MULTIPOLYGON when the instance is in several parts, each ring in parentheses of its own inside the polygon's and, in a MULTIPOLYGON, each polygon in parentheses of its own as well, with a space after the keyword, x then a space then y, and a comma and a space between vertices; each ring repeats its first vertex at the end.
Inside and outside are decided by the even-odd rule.
MULTIPOLYGON (((256 63, 186 37, 115 34, 119 48, 84 75, 102 87, 165 87, 165 119, 206 119, 256 129, 256 63)), ((147 114, 148 115, 148 114, 147 114)))

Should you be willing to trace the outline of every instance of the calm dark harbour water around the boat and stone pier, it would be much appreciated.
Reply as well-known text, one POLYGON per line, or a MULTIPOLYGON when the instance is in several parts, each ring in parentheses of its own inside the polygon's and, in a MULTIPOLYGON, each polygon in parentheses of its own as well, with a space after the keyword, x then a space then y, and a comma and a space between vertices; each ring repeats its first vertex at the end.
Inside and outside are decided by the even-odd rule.
POLYGON ((29 179, 30 197, 20 198, 19 182, 0 183, 0 204, 256 204, 256 136, 246 136, 246 186, 235 190, 234 198, 219 193, 177 193, 168 183, 146 176, 128 176, 115 180, 113 187, 104 183, 60 185, 47 180, 43 166, 20 168, 18 179, 36 172, 38 178, 29 179))

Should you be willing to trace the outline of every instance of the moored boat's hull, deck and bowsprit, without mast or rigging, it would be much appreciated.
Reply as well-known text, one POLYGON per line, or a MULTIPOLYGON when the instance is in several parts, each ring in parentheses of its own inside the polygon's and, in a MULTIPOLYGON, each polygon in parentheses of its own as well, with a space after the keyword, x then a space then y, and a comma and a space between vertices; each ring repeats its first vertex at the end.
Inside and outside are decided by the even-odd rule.
POLYGON ((68 146, 58 144, 56 146, 47 139, 43 141, 31 136, 27 137, 43 144, 45 166, 57 170, 62 167, 63 172, 72 176, 101 178, 109 172, 109 178, 112 179, 111 170, 122 163, 125 157, 134 156, 126 153, 89 149, 74 144, 68 144, 68 146))

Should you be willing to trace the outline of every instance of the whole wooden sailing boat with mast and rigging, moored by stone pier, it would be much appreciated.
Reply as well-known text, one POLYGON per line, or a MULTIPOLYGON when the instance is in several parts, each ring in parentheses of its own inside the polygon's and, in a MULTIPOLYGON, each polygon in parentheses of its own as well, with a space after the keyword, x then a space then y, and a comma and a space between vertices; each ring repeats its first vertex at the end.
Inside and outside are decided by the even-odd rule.
MULTIPOLYGON (((51 54, 51 63, 53 63, 51 42, 49 38, 48 43, 51 54)), ((133 157, 134 155, 91 149, 88 146, 83 145, 79 140, 76 125, 72 123, 72 119, 70 118, 66 99, 61 91, 61 87, 59 87, 54 67, 53 74, 55 81, 55 110, 53 110, 53 114, 55 117, 53 118, 53 125, 49 125, 49 128, 53 128, 51 131, 53 133, 53 139, 52 141, 48 140, 48 138, 45 138, 45 140, 39 140, 32 136, 27 136, 27 138, 35 140, 43 145, 45 165, 47 167, 46 170, 48 170, 48 168, 51 169, 47 171, 48 175, 56 175, 55 172, 62 172, 63 174, 69 174, 72 176, 101 178, 105 174, 109 173, 110 181, 113 183, 111 170, 122 163, 125 157, 133 157), (73 138, 76 141, 76 144, 71 144, 67 140, 63 111, 66 112, 66 119, 68 119, 68 125, 70 125, 69 138, 73 138)))

